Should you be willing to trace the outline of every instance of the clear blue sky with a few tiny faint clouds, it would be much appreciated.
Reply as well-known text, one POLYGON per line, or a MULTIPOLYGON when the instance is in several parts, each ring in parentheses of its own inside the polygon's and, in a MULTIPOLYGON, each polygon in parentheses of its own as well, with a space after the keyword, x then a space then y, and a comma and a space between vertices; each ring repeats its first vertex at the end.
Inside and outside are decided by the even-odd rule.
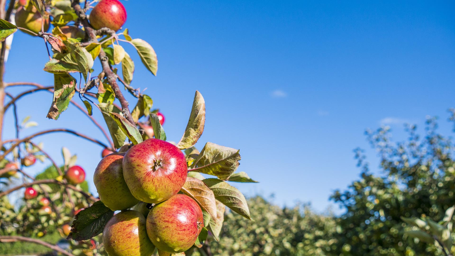
MULTIPOLYGON (((234 184, 246 195, 274 194, 277 204, 311 202, 322 211, 332 205, 334 189, 359 177, 352 149, 369 148, 365 128, 388 124, 400 139, 402 123, 422 127, 426 115, 437 115, 441 132, 453 135, 445 122, 446 110, 455 107, 453 1, 122 2, 124 27, 148 41, 159 60, 153 77, 124 45, 136 63, 132 86, 147 88, 174 141, 199 90, 207 119, 197 147, 210 141, 239 148, 238 170, 260 181, 234 184)), ((5 80, 52 85, 52 75, 42 71, 47 60, 42 40, 18 32, 5 80)), ((58 121, 46 119, 51 100, 47 92, 20 100, 20 118, 31 115, 40 124, 21 136, 66 127, 103 140, 74 107, 58 121)), ((94 116, 102 122, 100 113, 94 116)), ((12 138, 10 112, 6 118, 4 137, 12 138)), ((91 177, 101 147, 66 134, 39 141, 59 163, 62 144, 76 153, 96 192, 91 177)), ((375 152, 367 154, 375 168, 375 152)))

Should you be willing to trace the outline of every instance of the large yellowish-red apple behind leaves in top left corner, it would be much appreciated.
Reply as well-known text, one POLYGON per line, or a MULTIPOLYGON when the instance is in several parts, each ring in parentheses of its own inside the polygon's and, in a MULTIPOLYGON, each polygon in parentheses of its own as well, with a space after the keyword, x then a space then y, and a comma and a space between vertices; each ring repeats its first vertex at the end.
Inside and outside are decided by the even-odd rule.
MULTIPOLYGON (((38 34, 41 31, 41 22, 42 22, 42 17, 39 11, 34 9, 35 11, 28 11, 25 10, 23 6, 20 6, 19 9, 17 9, 16 15, 15 15, 15 21, 16 21, 16 26, 22 27, 25 29, 28 29, 30 31, 35 32, 38 34)), ((48 15, 48 14, 45 14, 48 15)), ((49 30, 49 16, 44 19, 44 31, 49 30)), ((30 33, 29 31, 22 31, 25 32, 29 35, 35 36, 34 34, 30 33)))

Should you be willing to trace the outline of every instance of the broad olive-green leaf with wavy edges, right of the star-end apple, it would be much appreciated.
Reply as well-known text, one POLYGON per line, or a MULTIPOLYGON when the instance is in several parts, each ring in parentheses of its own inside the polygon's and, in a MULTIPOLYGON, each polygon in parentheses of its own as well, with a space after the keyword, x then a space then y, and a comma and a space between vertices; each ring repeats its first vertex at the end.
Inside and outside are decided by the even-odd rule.
POLYGON ((202 148, 201 154, 197 156, 197 159, 191 165, 192 169, 188 171, 201 172, 227 180, 238 168, 240 159, 238 149, 207 142, 202 148))

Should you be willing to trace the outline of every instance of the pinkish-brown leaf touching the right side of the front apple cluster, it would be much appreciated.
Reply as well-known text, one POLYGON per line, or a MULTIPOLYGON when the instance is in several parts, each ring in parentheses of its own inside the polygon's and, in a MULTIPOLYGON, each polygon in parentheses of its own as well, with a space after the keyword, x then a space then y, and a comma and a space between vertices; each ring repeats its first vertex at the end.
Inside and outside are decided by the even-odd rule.
POLYGON ((183 184, 180 191, 194 199, 201 206, 202 210, 205 210, 213 220, 217 219, 215 195, 202 180, 187 177, 187 181, 183 184))

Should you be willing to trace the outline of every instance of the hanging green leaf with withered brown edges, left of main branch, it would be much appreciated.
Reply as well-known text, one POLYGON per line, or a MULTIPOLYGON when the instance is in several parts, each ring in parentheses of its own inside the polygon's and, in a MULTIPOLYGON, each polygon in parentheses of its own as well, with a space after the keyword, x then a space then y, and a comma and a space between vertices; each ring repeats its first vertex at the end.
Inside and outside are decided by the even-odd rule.
POLYGON ((54 98, 47 118, 57 120, 60 114, 68 108, 74 96, 76 79, 68 73, 54 74, 54 98))

